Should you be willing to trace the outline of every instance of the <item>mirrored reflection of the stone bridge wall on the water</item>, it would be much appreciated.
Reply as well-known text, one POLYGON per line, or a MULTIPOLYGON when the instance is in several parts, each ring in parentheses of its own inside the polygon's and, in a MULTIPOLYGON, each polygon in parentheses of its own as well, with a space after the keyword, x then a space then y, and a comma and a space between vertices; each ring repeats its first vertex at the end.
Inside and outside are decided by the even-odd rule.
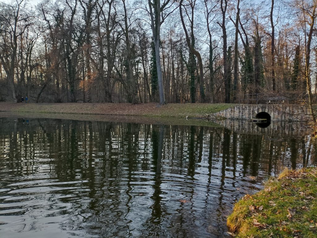
POLYGON ((268 127, 261 128, 256 123, 246 120, 220 120, 221 126, 230 129, 238 134, 267 135, 272 137, 297 138, 307 134, 308 126, 305 122, 275 121, 268 127))

